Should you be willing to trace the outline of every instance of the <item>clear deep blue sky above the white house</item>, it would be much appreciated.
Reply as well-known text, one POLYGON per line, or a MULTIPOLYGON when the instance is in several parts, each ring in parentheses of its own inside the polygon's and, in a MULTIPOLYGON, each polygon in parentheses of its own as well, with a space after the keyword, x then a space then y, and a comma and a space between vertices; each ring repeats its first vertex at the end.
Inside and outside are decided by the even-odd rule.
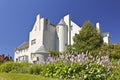
POLYGON ((57 24, 68 13, 81 26, 87 20, 100 22, 112 42, 120 42, 120 0, 0 0, 0 54, 13 56, 28 41, 37 14, 57 24))

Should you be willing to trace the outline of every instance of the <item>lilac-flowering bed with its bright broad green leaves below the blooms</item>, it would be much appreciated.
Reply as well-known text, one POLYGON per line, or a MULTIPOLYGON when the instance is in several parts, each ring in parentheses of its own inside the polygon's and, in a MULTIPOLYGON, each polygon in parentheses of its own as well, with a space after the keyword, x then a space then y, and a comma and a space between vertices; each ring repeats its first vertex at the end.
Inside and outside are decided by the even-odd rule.
POLYGON ((109 56, 90 54, 49 56, 42 75, 62 79, 104 80, 111 73, 109 56))

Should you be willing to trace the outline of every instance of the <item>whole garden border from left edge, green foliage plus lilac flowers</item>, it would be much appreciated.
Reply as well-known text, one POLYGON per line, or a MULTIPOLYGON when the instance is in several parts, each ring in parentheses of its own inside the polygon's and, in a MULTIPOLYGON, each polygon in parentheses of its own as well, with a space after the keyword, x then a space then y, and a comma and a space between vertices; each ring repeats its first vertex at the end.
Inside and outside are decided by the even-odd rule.
POLYGON ((113 67, 109 56, 93 57, 89 53, 82 53, 49 56, 45 64, 8 62, 0 65, 0 72, 40 74, 67 80, 106 80, 112 76, 113 67))

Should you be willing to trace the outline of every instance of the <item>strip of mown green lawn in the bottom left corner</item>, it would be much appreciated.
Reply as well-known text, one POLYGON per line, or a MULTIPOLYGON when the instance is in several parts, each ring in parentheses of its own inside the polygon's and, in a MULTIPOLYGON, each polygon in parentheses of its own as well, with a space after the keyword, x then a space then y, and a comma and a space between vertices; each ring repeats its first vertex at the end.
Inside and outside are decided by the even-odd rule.
POLYGON ((59 80, 45 78, 39 75, 18 74, 18 73, 0 73, 0 80, 59 80))

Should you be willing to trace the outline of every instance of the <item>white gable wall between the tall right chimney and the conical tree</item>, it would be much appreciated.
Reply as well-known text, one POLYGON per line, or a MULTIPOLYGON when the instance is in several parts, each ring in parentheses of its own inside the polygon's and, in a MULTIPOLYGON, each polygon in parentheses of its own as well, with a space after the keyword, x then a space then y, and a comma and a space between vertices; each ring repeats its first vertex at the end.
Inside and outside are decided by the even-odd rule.
POLYGON ((71 45, 73 45, 74 41, 73 41, 73 37, 75 36, 75 34, 79 34, 79 31, 81 30, 80 26, 78 26, 77 24, 75 24, 73 21, 71 21, 71 45))

